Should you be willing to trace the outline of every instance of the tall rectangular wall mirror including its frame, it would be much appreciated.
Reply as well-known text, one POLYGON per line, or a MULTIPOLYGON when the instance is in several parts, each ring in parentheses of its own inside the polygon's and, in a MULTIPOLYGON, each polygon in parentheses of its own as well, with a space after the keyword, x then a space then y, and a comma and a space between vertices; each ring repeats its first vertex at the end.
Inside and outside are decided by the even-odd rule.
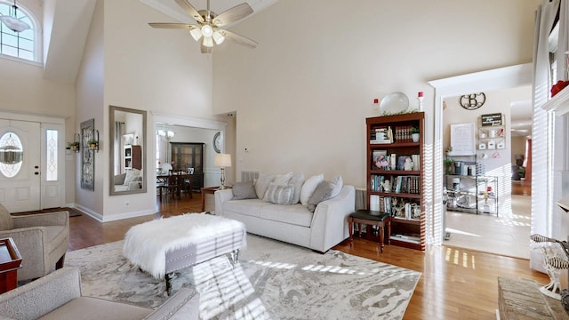
POLYGON ((110 106, 110 196, 146 193, 146 111, 110 106))

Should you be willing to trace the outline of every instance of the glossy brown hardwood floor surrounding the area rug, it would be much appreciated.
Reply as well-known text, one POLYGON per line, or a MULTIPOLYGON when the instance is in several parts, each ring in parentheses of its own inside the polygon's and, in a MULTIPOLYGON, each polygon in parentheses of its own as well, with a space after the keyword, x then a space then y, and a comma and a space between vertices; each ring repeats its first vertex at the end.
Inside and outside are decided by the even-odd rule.
MULTIPOLYGON (((199 212, 200 195, 193 200, 158 202, 157 215, 168 217, 199 212)), ((154 215, 100 223, 82 215, 70 218, 70 249, 121 240, 128 228, 153 220, 154 215)), ((520 244, 527 245, 527 244, 520 244)), ((422 273, 404 319, 495 319, 499 276, 524 277, 547 284, 549 278, 529 268, 528 260, 501 257, 448 246, 429 246, 425 252, 365 240, 344 241, 333 249, 422 273)))

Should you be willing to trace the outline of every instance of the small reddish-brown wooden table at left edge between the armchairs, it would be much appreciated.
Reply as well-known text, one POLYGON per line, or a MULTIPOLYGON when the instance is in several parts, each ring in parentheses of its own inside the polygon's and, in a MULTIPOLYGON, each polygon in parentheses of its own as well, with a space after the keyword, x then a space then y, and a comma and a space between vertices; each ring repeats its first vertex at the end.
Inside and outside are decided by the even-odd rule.
POLYGON ((18 286, 21 255, 11 237, 0 239, 0 293, 18 286))

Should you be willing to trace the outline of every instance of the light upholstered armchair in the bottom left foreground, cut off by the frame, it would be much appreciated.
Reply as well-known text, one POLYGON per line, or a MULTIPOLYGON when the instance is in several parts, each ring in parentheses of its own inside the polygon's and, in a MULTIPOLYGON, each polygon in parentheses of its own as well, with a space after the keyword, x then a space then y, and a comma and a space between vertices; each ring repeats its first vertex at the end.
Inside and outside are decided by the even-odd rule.
POLYGON ((60 268, 0 294, 0 319, 184 319, 199 315, 199 293, 180 288, 156 310, 85 297, 78 268, 60 268))

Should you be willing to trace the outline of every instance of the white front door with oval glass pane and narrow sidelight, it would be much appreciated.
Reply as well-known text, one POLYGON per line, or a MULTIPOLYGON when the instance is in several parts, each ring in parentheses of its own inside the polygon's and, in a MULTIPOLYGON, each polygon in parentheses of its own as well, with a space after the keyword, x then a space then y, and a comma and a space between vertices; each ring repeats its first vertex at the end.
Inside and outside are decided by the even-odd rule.
POLYGON ((0 204, 8 212, 63 206, 64 132, 62 118, 0 110, 0 204))

